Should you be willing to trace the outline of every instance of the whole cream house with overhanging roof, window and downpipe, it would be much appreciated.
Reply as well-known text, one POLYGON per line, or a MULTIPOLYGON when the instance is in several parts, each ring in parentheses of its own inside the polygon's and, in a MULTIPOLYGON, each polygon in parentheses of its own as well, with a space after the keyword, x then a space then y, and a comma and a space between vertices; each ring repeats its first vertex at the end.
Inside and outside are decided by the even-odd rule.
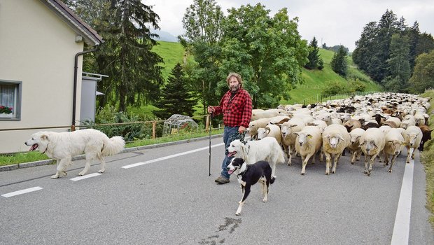
POLYGON ((34 132, 78 125, 84 43, 102 42, 62 1, 0 0, 0 106, 13 108, 0 114, 0 153, 28 151, 34 132))

